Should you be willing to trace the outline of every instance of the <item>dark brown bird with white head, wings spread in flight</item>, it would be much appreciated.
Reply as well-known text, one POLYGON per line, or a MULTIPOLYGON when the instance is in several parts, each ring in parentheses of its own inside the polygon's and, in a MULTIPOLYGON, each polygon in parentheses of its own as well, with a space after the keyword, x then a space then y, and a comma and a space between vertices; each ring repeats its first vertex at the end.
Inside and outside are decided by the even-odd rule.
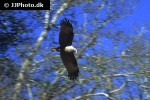
POLYGON ((74 37, 73 27, 69 19, 64 18, 60 21, 60 33, 59 44, 57 48, 52 48, 51 51, 60 52, 60 56, 64 66, 68 72, 68 78, 75 80, 79 74, 79 68, 74 56, 74 52, 77 52, 76 48, 72 46, 74 37))

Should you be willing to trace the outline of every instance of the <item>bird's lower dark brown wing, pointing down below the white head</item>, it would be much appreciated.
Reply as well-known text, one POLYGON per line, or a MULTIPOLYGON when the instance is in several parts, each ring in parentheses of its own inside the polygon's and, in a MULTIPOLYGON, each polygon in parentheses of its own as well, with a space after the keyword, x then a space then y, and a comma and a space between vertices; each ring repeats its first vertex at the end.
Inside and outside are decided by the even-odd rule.
POLYGON ((68 77, 70 80, 75 80, 78 77, 79 68, 75 59, 74 53, 67 53, 65 51, 60 52, 61 59, 68 71, 68 77))

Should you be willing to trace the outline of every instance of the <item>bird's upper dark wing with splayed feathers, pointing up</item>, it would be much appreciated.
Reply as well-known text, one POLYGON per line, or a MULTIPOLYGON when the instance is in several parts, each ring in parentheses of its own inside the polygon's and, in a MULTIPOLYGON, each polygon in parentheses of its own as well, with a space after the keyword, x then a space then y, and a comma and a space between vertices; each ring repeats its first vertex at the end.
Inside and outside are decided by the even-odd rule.
POLYGON ((72 45, 74 37, 73 27, 69 19, 64 18, 60 21, 61 28, 59 34, 59 44, 61 48, 72 45))

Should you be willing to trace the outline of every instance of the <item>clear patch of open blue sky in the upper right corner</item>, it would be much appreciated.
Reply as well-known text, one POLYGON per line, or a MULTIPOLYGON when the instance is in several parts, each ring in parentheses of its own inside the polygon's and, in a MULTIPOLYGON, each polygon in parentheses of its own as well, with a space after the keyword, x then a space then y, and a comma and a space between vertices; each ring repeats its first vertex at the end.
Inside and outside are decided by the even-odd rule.
POLYGON ((132 14, 119 20, 119 24, 123 28, 130 29, 134 24, 139 27, 150 22, 150 0, 140 0, 136 9, 132 14))

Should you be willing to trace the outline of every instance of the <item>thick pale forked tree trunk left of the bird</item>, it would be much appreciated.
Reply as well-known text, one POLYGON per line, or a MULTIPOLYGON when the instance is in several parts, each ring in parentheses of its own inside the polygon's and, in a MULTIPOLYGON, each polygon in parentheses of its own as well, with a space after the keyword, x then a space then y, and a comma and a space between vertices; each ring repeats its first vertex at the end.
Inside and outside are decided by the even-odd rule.
POLYGON ((21 70, 19 72, 17 82, 14 87, 14 93, 12 94, 12 99, 16 100, 17 95, 19 94, 21 88, 22 88, 22 82, 24 81, 24 73, 27 72, 32 66, 31 66, 31 61, 33 60, 34 55, 36 54, 37 50, 39 49, 41 42, 47 35, 47 32, 51 29, 52 25, 56 22, 58 16, 68 7, 68 3, 62 4, 62 6, 58 9, 54 17, 52 18, 51 23, 49 24, 49 11, 46 11, 45 13, 45 26, 44 26, 44 31, 41 33, 39 38, 37 39, 37 42, 34 46, 34 49, 28 57, 25 58, 25 61, 22 64, 21 70))

